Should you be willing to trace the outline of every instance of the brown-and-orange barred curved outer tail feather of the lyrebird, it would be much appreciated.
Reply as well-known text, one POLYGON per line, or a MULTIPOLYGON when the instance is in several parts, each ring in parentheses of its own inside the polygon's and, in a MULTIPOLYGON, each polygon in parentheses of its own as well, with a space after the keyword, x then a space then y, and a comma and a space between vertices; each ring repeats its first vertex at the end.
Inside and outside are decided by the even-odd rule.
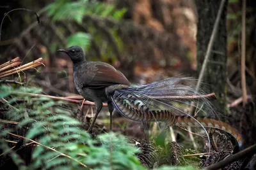
MULTIPOLYGON (((130 97, 131 98, 131 97, 130 97)), ((200 97, 198 97, 200 99, 200 97)), ((120 109, 124 116, 134 121, 149 121, 149 122, 166 122, 168 126, 191 126, 191 127, 212 127, 228 132, 236 138, 239 145, 243 144, 241 133, 234 127, 225 122, 207 117, 189 117, 188 115, 177 115, 169 110, 150 110, 145 104, 140 106, 135 104, 134 100, 129 100, 129 104, 124 102, 124 99, 114 98, 116 106, 120 109), (198 122, 200 123, 198 123, 198 122)))

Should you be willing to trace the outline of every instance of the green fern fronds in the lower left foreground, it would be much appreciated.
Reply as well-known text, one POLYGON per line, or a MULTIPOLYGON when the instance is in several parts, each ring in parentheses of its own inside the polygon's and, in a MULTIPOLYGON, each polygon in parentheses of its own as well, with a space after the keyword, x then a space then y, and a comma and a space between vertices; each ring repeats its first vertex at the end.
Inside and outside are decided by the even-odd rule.
MULTIPOLYGON (((19 111, 10 109, 8 118, 19 120, 17 127, 21 129, 28 127, 26 137, 21 137, 37 144, 32 153, 33 163, 29 164, 28 169, 84 169, 87 166, 93 169, 145 169, 134 155, 138 149, 130 145, 124 136, 102 134, 93 140, 81 129, 81 123, 70 117, 69 111, 61 108, 61 103, 44 97, 24 96, 17 92, 18 89, 10 90, 6 99, 14 96, 27 103, 26 108, 22 108, 22 104, 15 105, 13 102, 19 111)), ((22 90, 40 92, 37 89, 22 90)), ((0 135, 8 132, 0 132, 0 135)), ((12 158, 16 157, 19 155, 12 158)), ((19 160, 17 164, 22 164, 23 160, 19 160)))

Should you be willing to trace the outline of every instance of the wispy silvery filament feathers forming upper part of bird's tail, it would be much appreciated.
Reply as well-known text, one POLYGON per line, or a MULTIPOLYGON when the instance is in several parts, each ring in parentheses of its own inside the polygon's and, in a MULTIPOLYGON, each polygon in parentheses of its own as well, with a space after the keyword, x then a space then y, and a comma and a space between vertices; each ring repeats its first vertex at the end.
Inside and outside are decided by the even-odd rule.
POLYGON ((149 110, 170 110, 173 115, 188 115, 188 106, 193 106, 204 115, 216 116, 209 99, 214 94, 204 95, 196 92, 196 80, 193 78, 166 78, 147 85, 131 86, 115 90, 113 98, 126 103, 145 105, 149 110), (191 103, 193 101, 193 103, 191 103))

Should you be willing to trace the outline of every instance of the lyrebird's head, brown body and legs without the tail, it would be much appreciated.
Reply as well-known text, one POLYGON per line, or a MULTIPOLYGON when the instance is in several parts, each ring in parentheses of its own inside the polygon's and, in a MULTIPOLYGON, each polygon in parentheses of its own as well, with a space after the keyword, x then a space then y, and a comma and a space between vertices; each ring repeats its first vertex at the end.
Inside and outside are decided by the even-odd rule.
POLYGON ((83 50, 79 46, 70 46, 70 48, 58 51, 67 53, 74 64, 74 84, 79 94, 84 99, 95 103, 96 115, 88 129, 91 131, 102 108, 102 103, 108 103, 109 113, 112 116, 113 106, 108 96, 111 89, 122 89, 131 83, 124 74, 106 62, 86 61, 83 50))

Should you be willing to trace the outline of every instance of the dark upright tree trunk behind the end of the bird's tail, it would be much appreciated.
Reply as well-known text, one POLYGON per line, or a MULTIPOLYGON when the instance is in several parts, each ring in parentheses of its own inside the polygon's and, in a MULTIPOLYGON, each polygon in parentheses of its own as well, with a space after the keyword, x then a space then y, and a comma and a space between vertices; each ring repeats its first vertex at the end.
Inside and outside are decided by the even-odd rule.
MULTIPOLYGON (((195 0, 195 3, 198 13, 196 46, 197 71, 199 75, 221 0, 195 0)), ((203 82, 207 84, 207 90, 216 94, 217 100, 214 101, 214 106, 222 111, 226 110, 227 96, 227 5, 228 1, 226 1, 221 14, 217 35, 212 46, 211 57, 207 62, 203 78, 203 82)))

